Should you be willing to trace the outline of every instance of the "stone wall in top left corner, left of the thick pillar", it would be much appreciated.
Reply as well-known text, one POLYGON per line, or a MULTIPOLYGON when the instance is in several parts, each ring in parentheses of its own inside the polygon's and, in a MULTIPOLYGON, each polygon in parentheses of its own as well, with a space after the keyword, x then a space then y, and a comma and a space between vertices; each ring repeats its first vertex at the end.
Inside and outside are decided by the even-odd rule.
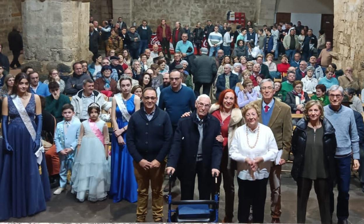
POLYGON ((2 53, 9 54, 8 33, 13 26, 21 30, 21 0, 0 0, 0 24, 2 53))

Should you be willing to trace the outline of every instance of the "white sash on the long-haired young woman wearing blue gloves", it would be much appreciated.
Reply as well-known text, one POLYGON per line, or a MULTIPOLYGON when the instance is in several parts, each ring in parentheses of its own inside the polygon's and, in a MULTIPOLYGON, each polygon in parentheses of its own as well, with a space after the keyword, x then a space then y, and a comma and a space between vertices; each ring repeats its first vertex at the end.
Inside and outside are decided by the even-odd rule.
MULTIPOLYGON (((27 113, 27 110, 25 110, 25 107, 23 105, 23 103, 21 103, 20 98, 17 95, 12 95, 12 100, 13 103, 16 107, 16 110, 18 111, 21 120, 23 121, 25 127, 27 128, 27 130, 29 131, 30 136, 32 137, 33 141, 35 141, 36 138, 36 132, 35 129, 32 125, 32 121, 29 118, 29 115, 27 113)), ((29 100, 30 102, 30 100, 29 100)), ((42 152, 44 152, 44 147, 42 145, 42 143, 40 142, 40 147, 39 149, 35 152, 35 156, 37 157, 37 163, 40 164, 42 162, 43 156, 42 156, 42 152)))

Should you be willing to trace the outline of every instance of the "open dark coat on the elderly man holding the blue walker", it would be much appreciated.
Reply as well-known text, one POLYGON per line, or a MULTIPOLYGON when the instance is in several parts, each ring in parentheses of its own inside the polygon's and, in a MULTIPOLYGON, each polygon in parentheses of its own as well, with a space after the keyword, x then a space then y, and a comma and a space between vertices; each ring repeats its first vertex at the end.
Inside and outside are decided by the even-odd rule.
MULTIPOLYGON (((220 122, 211 114, 203 119, 202 157, 203 168, 220 170, 222 143, 216 140, 220 135, 220 122)), ((168 155, 167 167, 174 167, 178 178, 195 176, 195 166, 200 134, 196 113, 179 119, 174 134, 171 151, 168 155)))

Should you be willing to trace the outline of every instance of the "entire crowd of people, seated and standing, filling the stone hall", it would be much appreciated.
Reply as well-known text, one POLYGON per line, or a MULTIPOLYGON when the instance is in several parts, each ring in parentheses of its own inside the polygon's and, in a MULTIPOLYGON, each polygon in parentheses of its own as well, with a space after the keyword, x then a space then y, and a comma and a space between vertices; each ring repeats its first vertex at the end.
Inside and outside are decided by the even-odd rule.
POLYGON ((145 20, 128 28, 122 17, 102 26, 90 17, 92 63, 75 62, 67 77, 52 69, 44 82, 31 67, 8 74, 17 58, 9 64, 0 53, 0 220, 44 211, 51 186, 59 195, 69 183, 79 201, 137 202, 137 222, 146 220, 150 185, 161 222, 167 173, 171 187, 180 180, 181 200, 194 199, 196 175, 199 199, 209 200, 217 175, 229 223, 235 174, 240 223, 264 222, 269 181, 272 223, 280 223, 282 165, 292 152, 297 222, 305 223, 314 182, 321 222, 332 223, 337 184, 338 223, 347 223, 351 159, 353 170, 364 167, 361 85, 353 68, 332 63, 332 42, 319 33, 300 22, 256 30, 251 21, 232 32, 211 20, 171 30, 163 19, 159 50, 148 48, 145 20))

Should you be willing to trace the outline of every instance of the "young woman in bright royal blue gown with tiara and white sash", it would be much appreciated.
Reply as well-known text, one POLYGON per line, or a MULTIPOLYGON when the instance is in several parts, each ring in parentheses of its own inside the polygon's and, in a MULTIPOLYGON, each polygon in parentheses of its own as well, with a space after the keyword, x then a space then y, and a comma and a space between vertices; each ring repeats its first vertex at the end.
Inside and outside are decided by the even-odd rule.
POLYGON ((134 203, 138 199, 138 185, 134 175, 133 159, 126 145, 130 115, 140 109, 140 98, 131 94, 131 78, 122 76, 120 94, 112 98, 111 119, 114 134, 111 140, 111 187, 114 202, 126 199, 134 203))

